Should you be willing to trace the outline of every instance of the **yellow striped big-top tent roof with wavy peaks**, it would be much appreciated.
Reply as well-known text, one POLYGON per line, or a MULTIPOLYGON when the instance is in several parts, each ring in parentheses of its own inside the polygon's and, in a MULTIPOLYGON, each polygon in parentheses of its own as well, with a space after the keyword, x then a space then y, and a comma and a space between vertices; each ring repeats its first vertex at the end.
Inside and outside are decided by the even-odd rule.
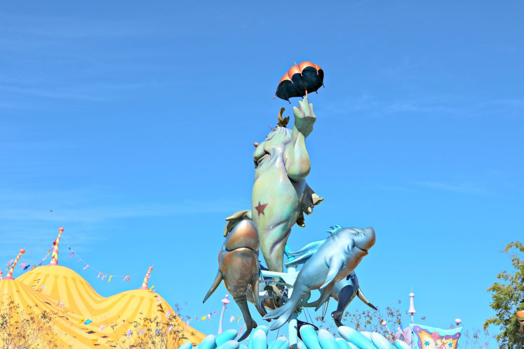
POLYGON ((137 289, 105 298, 78 273, 64 266, 38 267, 14 280, 0 280, 0 295, 3 299, 13 298, 21 307, 58 311, 56 333, 52 335, 64 347, 109 348, 122 339, 132 344, 159 328, 166 331, 168 325, 180 330, 182 339, 178 344, 200 343, 205 337, 186 327, 160 295, 137 289), (82 319, 92 322, 83 324, 82 319), (104 328, 100 330, 101 325, 104 328), (133 333, 127 339, 129 330, 133 333))

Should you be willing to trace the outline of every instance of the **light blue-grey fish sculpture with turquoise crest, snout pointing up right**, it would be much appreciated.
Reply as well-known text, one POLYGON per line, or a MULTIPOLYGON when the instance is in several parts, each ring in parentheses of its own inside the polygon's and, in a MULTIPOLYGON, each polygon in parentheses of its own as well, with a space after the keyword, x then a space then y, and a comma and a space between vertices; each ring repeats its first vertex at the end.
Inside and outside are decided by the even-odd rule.
POLYGON ((350 275, 375 244, 375 231, 371 227, 360 229, 337 226, 330 233, 331 236, 325 241, 308 244, 290 253, 303 254, 286 265, 304 263, 304 266, 293 285, 291 298, 285 305, 264 316, 264 320, 277 319, 271 323, 270 330, 285 324, 297 306, 309 299, 314 289, 321 289, 320 298, 305 306, 315 306, 315 310, 318 310, 329 299, 334 283, 350 275))

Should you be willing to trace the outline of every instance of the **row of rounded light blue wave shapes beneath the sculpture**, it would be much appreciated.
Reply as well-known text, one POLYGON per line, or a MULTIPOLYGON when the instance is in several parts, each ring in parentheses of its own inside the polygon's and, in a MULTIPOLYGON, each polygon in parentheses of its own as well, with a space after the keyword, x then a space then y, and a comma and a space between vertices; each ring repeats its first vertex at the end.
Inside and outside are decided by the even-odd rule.
MULTIPOLYGON (((267 342, 268 328, 259 326, 249 336, 247 345, 235 341, 238 335, 236 330, 227 330, 219 335, 210 334, 195 347, 198 349, 288 349, 289 340, 280 336, 276 341, 267 342)), ((335 338, 326 330, 318 332, 309 325, 300 328, 302 341, 297 344, 298 349, 411 349, 405 342, 396 340, 392 345, 383 335, 377 332, 358 332, 350 327, 339 327, 342 338, 335 338)), ((191 342, 181 345, 178 349, 192 349, 191 342)))

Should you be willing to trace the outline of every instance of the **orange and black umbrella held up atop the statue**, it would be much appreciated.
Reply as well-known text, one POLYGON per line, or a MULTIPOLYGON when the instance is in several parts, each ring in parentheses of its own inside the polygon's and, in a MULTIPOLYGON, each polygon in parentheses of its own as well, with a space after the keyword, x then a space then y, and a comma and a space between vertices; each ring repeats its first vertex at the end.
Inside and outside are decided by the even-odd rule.
POLYGON ((308 93, 316 92, 320 86, 324 86, 322 68, 312 62, 302 62, 293 65, 282 76, 275 97, 289 102, 289 98, 307 96, 308 93))

